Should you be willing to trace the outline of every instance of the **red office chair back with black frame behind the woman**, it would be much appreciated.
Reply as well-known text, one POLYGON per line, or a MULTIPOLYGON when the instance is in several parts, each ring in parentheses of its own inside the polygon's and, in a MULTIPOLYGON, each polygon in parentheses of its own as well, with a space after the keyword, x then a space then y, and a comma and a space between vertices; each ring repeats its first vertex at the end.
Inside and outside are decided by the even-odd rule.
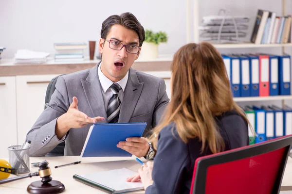
POLYGON ((292 135, 200 157, 190 194, 278 194, 292 135))

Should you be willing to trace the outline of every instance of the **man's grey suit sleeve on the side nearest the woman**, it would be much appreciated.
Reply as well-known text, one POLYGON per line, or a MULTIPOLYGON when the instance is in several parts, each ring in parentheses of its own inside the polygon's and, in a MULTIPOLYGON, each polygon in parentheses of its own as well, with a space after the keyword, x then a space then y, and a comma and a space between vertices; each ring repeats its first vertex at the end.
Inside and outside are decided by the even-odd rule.
POLYGON ((152 119, 152 127, 156 127, 159 123, 164 110, 169 102, 169 98, 166 94, 166 85, 163 79, 161 79, 159 83, 159 92, 157 97, 157 103, 154 108, 153 119, 152 119))

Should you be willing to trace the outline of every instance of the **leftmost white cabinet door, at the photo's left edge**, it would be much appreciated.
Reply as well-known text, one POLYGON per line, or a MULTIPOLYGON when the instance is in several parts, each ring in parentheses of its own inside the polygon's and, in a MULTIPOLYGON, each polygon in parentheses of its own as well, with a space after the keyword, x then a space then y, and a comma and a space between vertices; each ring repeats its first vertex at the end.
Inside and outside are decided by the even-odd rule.
POLYGON ((17 144, 15 76, 0 77, 0 158, 8 158, 7 147, 17 144))

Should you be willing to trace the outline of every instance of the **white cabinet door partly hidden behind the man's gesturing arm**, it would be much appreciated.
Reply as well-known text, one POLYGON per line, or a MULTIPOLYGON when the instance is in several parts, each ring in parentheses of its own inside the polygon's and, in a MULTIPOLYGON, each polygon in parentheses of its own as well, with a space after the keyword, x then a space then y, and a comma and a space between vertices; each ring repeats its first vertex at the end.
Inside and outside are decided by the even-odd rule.
POLYGON ((56 76, 16 76, 18 145, 43 112, 48 84, 56 76))

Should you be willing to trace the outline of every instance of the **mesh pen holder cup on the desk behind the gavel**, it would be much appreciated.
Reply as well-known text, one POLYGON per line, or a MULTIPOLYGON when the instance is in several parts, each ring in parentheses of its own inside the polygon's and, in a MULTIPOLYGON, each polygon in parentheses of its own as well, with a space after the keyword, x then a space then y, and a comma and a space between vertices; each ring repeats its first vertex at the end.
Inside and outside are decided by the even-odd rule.
POLYGON ((18 174, 29 173, 29 147, 9 146, 7 149, 11 167, 18 169, 18 174))

